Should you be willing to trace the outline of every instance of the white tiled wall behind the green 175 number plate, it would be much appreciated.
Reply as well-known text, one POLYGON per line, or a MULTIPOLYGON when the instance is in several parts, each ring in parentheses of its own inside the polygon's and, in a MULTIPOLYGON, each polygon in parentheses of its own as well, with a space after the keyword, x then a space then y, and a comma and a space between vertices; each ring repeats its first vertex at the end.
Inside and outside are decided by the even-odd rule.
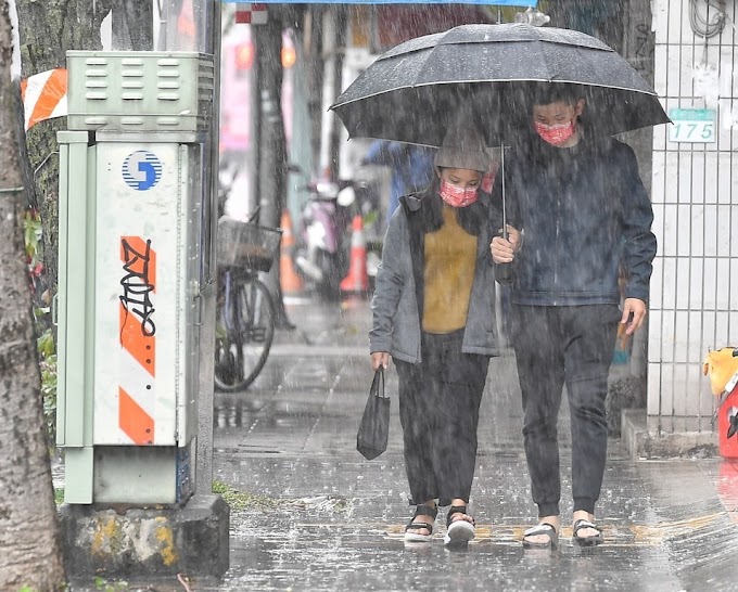
MULTIPOLYGON (((717 2, 711 4, 710 17, 717 2)), ((669 126, 653 130, 659 252, 651 279, 648 415, 649 425, 664 430, 712 429, 715 400, 702 360, 710 349, 738 347, 737 4, 727 0, 723 33, 705 41, 689 22, 692 5, 704 15, 705 0, 651 2, 654 87, 666 112, 718 112, 715 143, 672 143, 669 126)))

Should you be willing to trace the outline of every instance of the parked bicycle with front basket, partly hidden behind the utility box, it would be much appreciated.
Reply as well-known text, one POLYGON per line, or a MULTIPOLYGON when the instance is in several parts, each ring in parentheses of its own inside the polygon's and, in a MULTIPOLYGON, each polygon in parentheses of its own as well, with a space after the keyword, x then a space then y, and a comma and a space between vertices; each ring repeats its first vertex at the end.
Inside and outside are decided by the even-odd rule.
POLYGON ((215 330, 215 387, 249 387, 264 368, 275 337, 275 304, 259 271, 269 271, 281 230, 218 220, 218 298, 215 330))

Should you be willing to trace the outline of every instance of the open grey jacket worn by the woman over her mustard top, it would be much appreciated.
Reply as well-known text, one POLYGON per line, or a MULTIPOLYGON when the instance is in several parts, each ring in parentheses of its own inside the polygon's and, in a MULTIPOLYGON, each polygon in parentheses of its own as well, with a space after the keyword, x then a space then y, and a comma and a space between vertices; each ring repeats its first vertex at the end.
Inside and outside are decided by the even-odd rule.
MULTIPOLYGON (((370 352, 389 351, 393 358, 409 363, 421 361, 424 230, 419 219, 422 208, 430 207, 427 204, 433 198, 433 191, 430 189, 422 194, 400 198, 400 206, 393 214, 384 237, 382 262, 371 300, 370 352)), ((482 192, 479 195, 475 209, 484 216, 489 196, 482 192)), ((465 353, 498 356, 491 227, 486 220, 480 227, 476 268, 461 350, 465 353)))

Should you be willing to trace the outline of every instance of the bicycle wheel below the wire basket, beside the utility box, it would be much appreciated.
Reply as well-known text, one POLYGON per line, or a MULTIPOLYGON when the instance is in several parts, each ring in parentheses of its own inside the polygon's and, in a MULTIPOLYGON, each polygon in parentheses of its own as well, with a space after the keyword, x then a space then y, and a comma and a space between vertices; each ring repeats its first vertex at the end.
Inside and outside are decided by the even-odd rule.
POLYGON ((221 334, 215 344, 215 386, 224 392, 254 382, 275 337, 275 306, 260 280, 234 282, 228 296, 218 312, 221 334))

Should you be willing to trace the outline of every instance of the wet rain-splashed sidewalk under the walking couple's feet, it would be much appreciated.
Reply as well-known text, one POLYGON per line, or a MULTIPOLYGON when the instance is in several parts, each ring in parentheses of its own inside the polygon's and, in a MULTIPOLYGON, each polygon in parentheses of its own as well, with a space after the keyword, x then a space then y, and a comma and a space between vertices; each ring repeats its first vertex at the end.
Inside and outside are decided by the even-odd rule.
POLYGON ((294 299, 288 312, 298 329, 280 332, 257 382, 216 395, 216 479, 251 497, 231 515, 225 579, 192 581, 192 590, 738 589, 738 471, 720 459, 634 462, 611 440, 598 505, 606 543, 572 544, 567 413, 560 549, 522 549, 535 509, 512 356, 491 363, 482 404, 470 503, 476 539, 466 551, 445 549, 442 512, 432 543, 406 546, 411 507, 394 372, 390 448, 373 461, 355 450, 371 379, 368 303, 294 299))

